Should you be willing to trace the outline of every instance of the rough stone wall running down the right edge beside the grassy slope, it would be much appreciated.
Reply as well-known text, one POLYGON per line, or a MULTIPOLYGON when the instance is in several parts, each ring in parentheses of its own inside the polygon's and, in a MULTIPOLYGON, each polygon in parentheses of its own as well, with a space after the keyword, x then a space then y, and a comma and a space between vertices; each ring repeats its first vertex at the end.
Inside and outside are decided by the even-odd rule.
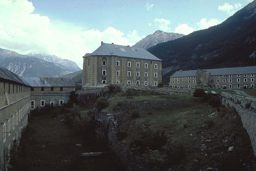
POLYGON ((236 108, 246 129, 256 156, 256 99, 221 93, 222 104, 236 108))

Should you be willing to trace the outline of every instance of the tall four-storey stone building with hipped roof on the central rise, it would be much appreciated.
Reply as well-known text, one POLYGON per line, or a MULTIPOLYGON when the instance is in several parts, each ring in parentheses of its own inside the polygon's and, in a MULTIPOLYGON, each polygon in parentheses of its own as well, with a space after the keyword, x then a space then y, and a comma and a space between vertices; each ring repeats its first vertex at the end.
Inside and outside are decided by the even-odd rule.
POLYGON ((109 84, 157 86, 162 81, 162 60, 143 48, 101 42, 83 58, 83 89, 109 84))

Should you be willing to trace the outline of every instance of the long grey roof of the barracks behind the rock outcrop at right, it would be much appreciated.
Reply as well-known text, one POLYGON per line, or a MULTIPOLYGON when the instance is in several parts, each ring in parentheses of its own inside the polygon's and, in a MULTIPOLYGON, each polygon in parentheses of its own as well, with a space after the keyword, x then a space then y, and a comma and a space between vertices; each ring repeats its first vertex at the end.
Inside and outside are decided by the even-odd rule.
MULTIPOLYGON (((177 76, 196 76, 197 70, 187 71, 176 71, 170 77, 177 76)), ((233 67, 233 68, 217 68, 217 69, 206 69, 211 75, 233 75, 233 74, 250 74, 256 73, 256 66, 245 66, 245 67, 233 67)))

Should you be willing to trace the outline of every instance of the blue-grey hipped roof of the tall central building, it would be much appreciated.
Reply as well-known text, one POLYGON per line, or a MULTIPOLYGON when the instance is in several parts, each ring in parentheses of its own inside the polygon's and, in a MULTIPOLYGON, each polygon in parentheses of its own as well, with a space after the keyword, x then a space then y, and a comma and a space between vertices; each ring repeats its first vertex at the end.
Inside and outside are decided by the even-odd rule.
POLYGON ((149 60, 160 60, 147 50, 139 47, 122 46, 117 44, 103 43, 92 53, 86 53, 84 57, 91 55, 122 56, 149 60))

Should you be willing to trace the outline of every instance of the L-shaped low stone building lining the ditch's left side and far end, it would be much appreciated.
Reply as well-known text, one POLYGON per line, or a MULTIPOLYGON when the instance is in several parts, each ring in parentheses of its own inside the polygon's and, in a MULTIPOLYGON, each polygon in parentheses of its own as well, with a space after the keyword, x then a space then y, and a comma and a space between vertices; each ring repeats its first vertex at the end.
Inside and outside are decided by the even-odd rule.
POLYGON ((30 110, 67 103, 74 90, 71 78, 23 78, 0 66, 0 171, 7 168, 12 143, 19 141, 30 110))

